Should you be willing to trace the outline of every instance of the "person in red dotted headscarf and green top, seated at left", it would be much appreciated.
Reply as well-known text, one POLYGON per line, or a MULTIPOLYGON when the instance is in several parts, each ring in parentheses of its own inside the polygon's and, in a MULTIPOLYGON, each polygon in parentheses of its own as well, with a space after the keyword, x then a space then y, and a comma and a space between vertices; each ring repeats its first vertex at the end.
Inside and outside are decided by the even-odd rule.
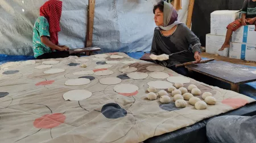
POLYGON ((40 16, 33 28, 33 50, 36 59, 69 56, 68 47, 58 46, 61 10, 62 2, 59 0, 49 0, 40 7, 40 16))

